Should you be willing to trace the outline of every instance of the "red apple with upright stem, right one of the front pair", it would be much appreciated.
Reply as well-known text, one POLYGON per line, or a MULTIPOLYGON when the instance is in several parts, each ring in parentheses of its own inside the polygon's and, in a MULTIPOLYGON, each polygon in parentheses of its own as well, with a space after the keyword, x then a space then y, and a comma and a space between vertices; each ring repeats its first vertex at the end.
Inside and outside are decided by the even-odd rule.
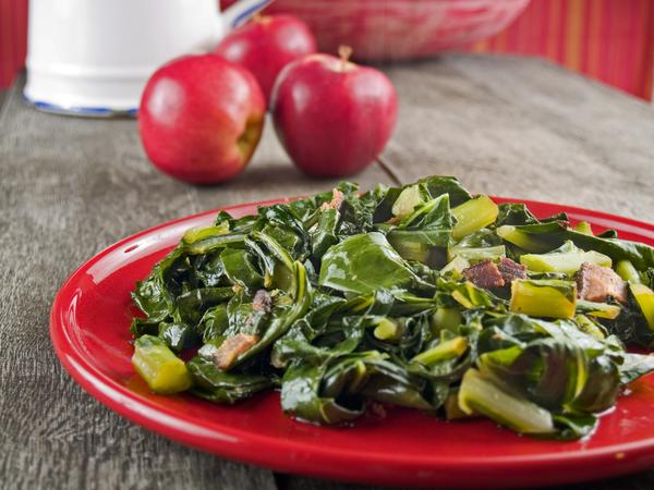
POLYGON ((396 89, 373 68, 310 54, 279 74, 270 101, 275 131, 310 175, 360 172, 382 152, 397 119, 396 89))

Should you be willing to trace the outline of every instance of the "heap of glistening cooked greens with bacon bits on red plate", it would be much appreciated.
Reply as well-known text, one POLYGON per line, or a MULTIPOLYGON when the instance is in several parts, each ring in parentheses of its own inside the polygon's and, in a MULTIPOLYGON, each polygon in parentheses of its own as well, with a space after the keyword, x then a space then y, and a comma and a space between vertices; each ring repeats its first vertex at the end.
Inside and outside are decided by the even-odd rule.
POLYGON ((189 230, 133 292, 133 364, 164 394, 279 389, 307 422, 396 405, 579 439, 654 370, 626 350, 654 346, 653 287, 654 248, 565 213, 342 183, 189 230))

